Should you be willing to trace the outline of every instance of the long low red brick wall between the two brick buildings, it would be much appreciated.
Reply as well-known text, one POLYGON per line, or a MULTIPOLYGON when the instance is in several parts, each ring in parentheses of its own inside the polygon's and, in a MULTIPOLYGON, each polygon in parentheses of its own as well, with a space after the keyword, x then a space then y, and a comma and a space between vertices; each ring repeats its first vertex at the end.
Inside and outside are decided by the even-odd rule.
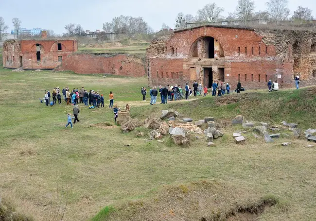
POLYGON ((69 55, 56 70, 72 70, 80 74, 102 73, 141 77, 145 75, 141 59, 125 54, 102 56, 87 53, 69 55))

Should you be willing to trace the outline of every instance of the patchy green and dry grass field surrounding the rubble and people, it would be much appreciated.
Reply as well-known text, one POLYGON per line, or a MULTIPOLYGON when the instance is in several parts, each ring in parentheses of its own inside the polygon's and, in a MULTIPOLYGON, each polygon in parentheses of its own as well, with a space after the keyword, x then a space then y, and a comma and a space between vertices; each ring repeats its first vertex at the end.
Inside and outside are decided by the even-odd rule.
POLYGON ((181 214, 194 220, 193 214, 199 211, 211 213, 207 207, 191 211, 191 206, 186 213, 171 212, 179 211, 178 201, 169 201, 180 194, 178 187, 182 193, 192 190, 190 202, 197 197, 194 192, 202 191, 201 205, 208 202, 207 196, 216 196, 209 206, 219 212, 272 196, 280 203, 266 209, 258 220, 316 220, 316 149, 304 148, 307 141, 292 137, 265 144, 251 133, 246 135, 246 145, 236 145, 231 133, 240 128, 229 125, 242 114, 249 120, 272 124, 286 120, 298 122, 301 129, 315 128, 315 88, 249 92, 241 95, 245 99, 226 105, 220 105, 227 102, 226 97, 207 97, 151 106, 140 101, 146 78, 0 69, 0 81, 0 194, 37 221, 52 220, 49 214, 55 212, 55 205, 64 206, 66 201, 66 221, 144 220, 148 216, 155 220, 155 215, 161 217, 165 211, 167 220, 176 221, 183 220, 181 214), (105 94, 105 108, 80 107, 80 123, 65 129, 66 114, 72 108, 64 102, 47 107, 38 100, 44 89, 54 86, 99 91, 105 94), (162 143, 136 137, 140 131, 148 133, 141 128, 123 134, 116 126, 88 127, 113 122, 113 110, 106 107, 110 90, 115 103, 130 104, 134 118, 159 116, 160 110, 175 108, 194 120, 215 117, 225 136, 214 141, 216 147, 194 139, 189 148, 182 148, 169 137, 162 143), (284 141, 292 145, 282 147, 284 141), (201 181, 210 186, 192 186, 201 181), (144 213, 141 208, 148 210, 144 213))

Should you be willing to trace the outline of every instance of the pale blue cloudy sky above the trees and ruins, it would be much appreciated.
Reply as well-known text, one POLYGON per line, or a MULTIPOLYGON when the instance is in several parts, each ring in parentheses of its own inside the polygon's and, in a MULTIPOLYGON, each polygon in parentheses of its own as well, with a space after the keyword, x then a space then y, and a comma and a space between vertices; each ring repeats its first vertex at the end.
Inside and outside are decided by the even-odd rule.
MULTIPOLYGON (((102 30, 103 23, 120 15, 143 17, 158 31, 162 23, 174 28, 179 12, 195 16, 198 9, 213 1, 208 0, 0 0, 0 17, 13 29, 12 18, 22 21, 22 28, 53 30, 55 34, 65 33, 65 25, 80 24, 84 30, 102 30)), ((308 7, 316 17, 315 0, 288 0, 291 14, 298 8, 308 7)), ((233 12, 237 0, 221 0, 216 4, 223 7, 224 17, 233 12)), ((265 0, 255 0, 255 11, 266 10, 265 0)))

